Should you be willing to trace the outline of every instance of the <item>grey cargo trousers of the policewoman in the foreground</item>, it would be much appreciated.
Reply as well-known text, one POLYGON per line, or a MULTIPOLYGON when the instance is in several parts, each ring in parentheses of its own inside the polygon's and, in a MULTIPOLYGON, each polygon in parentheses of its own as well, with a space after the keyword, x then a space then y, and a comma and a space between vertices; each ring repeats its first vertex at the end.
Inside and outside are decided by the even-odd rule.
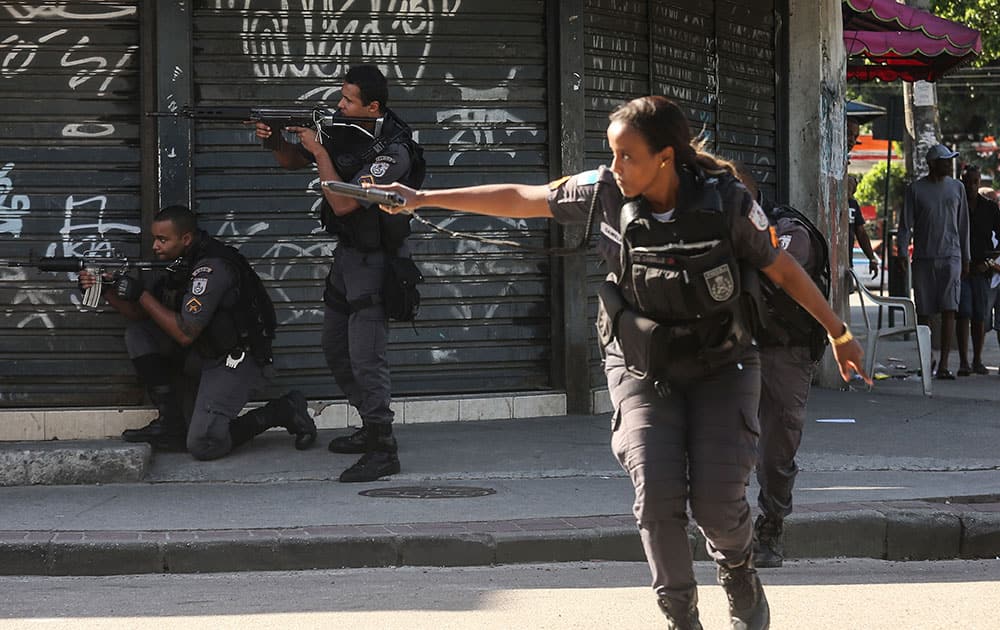
POLYGON ((625 370, 617 342, 606 353, 611 448, 635 486, 653 590, 686 603, 696 584, 689 505, 712 559, 732 566, 750 555, 746 486, 756 461, 760 360, 748 350, 739 362, 671 383, 664 397, 625 370))

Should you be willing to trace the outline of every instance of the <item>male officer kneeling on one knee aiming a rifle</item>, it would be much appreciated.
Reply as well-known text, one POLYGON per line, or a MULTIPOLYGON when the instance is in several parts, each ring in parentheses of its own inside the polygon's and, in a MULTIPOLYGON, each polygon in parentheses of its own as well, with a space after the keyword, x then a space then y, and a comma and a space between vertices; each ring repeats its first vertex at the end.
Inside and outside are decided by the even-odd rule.
MULTIPOLYGON (((122 434, 158 450, 187 450, 196 459, 217 459, 272 427, 294 434, 297 449, 316 441, 305 397, 291 391, 239 415, 272 371, 274 306, 260 278, 235 249, 199 230, 184 206, 153 218, 153 253, 175 261, 151 290, 123 275, 104 298, 132 320, 125 347, 159 417, 122 434), (185 379, 184 377, 188 377, 185 379), (193 380, 194 391, 185 391, 193 380), (184 396, 194 394, 187 422, 184 396)), ((81 272, 82 289, 93 276, 81 272)))

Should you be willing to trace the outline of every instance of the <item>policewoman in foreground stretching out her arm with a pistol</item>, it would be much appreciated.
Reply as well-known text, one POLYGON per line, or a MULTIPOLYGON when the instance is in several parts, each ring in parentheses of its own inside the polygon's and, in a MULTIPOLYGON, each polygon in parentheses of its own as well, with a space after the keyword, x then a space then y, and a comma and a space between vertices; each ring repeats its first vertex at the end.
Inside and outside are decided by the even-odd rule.
MULTIPOLYGON (((615 413, 612 449, 635 486, 634 512, 671 628, 701 628, 687 506, 718 563, 733 628, 767 628, 751 555, 746 483, 759 435, 753 279, 762 270, 830 335, 846 380, 861 347, 731 167, 698 150, 681 110, 659 96, 615 110, 610 170, 545 186, 498 184, 402 194, 406 205, 583 222, 593 204, 611 274, 598 329, 615 413)), ((864 375, 863 375, 864 376, 864 375)), ((865 376, 867 379, 867 376, 865 376)))

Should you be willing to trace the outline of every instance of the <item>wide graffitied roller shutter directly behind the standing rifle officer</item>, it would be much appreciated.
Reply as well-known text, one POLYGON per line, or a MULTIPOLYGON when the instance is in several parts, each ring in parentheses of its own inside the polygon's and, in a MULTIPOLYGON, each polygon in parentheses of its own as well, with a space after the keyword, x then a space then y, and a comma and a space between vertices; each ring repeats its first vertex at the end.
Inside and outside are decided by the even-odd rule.
MULTIPOLYGON (((542 2, 218 6, 195 5, 195 104, 334 106, 346 68, 374 62, 389 78, 389 106, 425 148, 427 187, 547 180, 542 2)), ((281 170, 246 128, 198 123, 194 172, 203 225, 241 248, 275 298, 279 384, 314 398, 339 395, 319 347, 335 242, 319 232, 318 197, 306 193, 314 171, 281 170)), ((547 242, 542 220, 420 214, 451 230, 547 242)), ((416 326, 393 324, 394 392, 550 388, 548 259, 413 227, 410 245, 427 281, 416 326)))

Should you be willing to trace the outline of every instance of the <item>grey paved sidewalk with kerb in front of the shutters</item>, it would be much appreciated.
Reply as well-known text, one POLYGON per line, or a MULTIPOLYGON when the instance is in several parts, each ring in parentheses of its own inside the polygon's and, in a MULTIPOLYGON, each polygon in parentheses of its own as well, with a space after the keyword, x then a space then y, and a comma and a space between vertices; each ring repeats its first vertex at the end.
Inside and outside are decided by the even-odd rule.
MULTIPOLYGON (((915 345, 884 342, 879 363, 903 375, 888 366, 916 365, 915 345)), ((932 398, 915 377, 814 389, 787 557, 1000 555, 995 339, 985 363, 989 376, 935 381, 932 398)), ((403 425, 402 473, 367 484, 336 481, 354 459, 327 452, 338 432, 299 452, 271 431, 216 462, 156 454, 141 481, 0 488, 0 573, 642 560, 608 431, 606 416, 403 425)), ((0 463, 39 446, 0 443, 0 463)))

